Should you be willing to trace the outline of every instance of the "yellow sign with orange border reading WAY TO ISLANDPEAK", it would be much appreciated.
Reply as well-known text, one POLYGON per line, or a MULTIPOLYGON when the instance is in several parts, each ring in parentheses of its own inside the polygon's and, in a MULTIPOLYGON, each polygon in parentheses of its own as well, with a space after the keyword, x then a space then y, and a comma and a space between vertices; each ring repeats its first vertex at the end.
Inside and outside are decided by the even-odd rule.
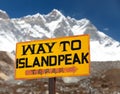
POLYGON ((89 35, 17 43, 15 78, 89 75, 89 45, 89 35))

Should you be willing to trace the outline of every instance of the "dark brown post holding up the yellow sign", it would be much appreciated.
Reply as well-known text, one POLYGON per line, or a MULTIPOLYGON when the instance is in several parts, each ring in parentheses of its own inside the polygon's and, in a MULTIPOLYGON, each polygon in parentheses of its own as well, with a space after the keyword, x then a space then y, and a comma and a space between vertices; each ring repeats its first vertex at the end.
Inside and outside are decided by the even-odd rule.
POLYGON ((49 94, 55 94, 56 78, 49 78, 49 94))

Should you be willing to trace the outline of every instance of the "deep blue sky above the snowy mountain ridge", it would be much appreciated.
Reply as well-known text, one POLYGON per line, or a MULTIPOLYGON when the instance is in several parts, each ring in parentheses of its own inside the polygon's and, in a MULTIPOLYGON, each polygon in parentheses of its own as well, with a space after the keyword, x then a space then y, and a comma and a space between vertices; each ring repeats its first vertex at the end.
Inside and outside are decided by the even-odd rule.
POLYGON ((120 42, 120 0, 0 0, 10 18, 58 9, 65 16, 87 18, 98 30, 120 42))

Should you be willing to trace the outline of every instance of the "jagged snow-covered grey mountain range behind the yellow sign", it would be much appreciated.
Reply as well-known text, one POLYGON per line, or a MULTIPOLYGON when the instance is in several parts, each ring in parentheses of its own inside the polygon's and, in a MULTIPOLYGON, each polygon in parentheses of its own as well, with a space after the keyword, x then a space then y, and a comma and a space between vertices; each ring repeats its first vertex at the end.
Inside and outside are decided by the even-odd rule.
POLYGON ((12 18, 0 10, 0 50, 15 51, 16 42, 72 35, 90 34, 92 61, 120 60, 120 43, 97 28, 86 18, 65 17, 54 9, 47 15, 37 13, 12 18))

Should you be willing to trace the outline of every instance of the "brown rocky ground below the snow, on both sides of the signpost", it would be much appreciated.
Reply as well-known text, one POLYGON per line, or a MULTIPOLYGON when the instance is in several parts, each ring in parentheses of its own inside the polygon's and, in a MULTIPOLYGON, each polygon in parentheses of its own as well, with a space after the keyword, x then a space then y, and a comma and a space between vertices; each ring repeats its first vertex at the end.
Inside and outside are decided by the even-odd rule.
MULTIPOLYGON (((0 51, 0 94, 49 94, 47 78, 14 79, 14 58, 0 51)), ((119 94, 119 79, 120 62, 91 62, 90 76, 56 78, 56 94, 119 94)))

